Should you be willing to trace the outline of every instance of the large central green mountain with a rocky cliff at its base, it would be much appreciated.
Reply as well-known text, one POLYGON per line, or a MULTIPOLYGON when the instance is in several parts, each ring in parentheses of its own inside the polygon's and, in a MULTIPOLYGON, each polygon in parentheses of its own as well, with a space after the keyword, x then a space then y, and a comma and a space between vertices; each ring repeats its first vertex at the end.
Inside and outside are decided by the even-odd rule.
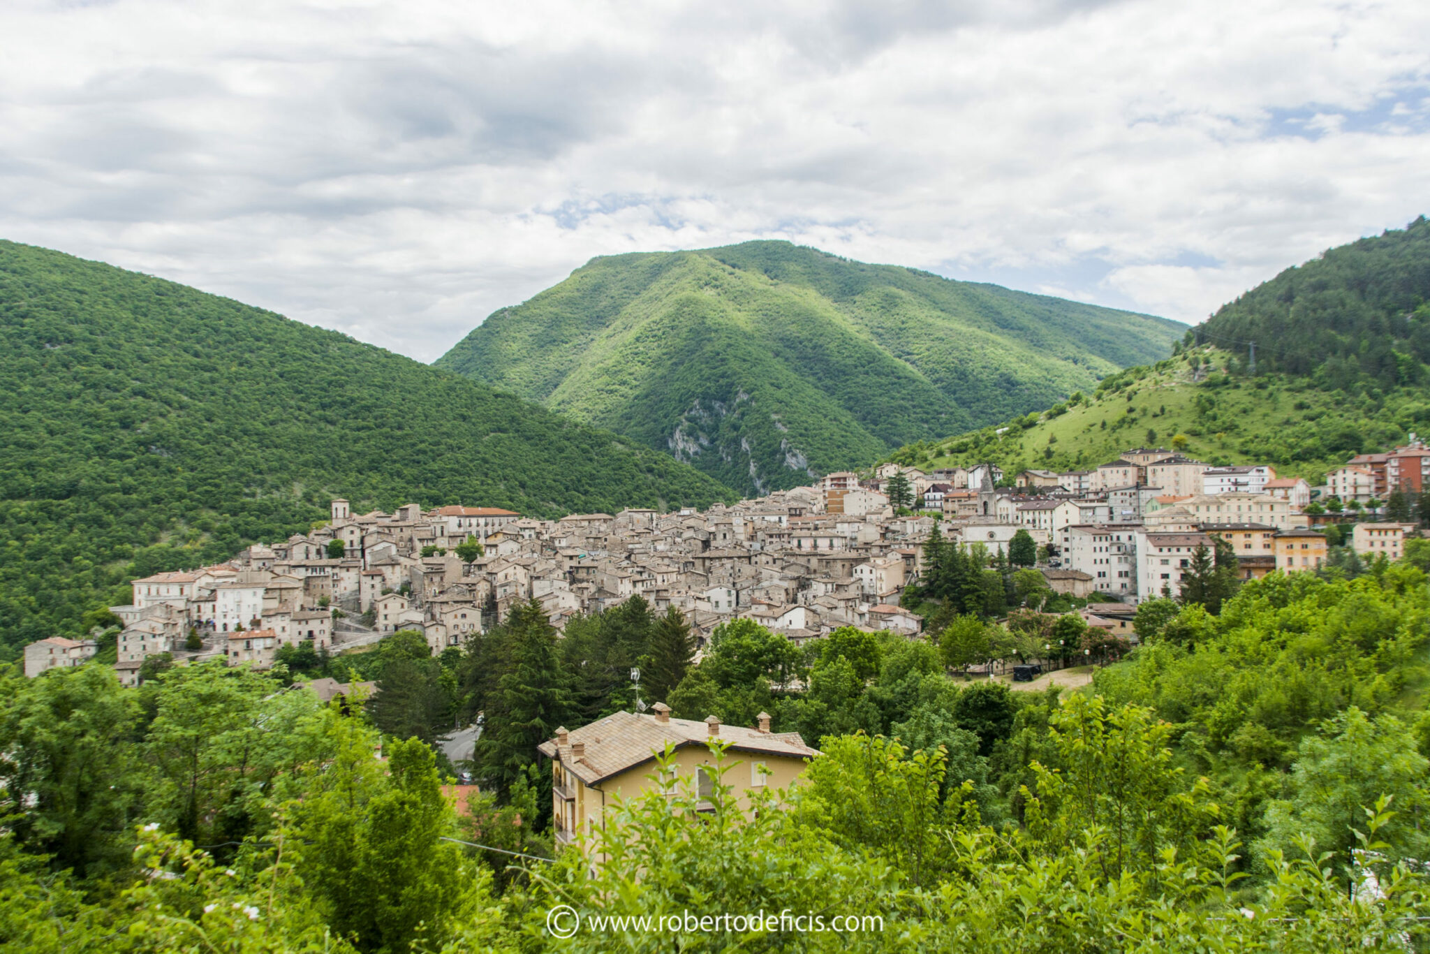
POLYGON ((436 365, 765 492, 1045 408, 1184 329, 746 242, 592 259, 436 365))

